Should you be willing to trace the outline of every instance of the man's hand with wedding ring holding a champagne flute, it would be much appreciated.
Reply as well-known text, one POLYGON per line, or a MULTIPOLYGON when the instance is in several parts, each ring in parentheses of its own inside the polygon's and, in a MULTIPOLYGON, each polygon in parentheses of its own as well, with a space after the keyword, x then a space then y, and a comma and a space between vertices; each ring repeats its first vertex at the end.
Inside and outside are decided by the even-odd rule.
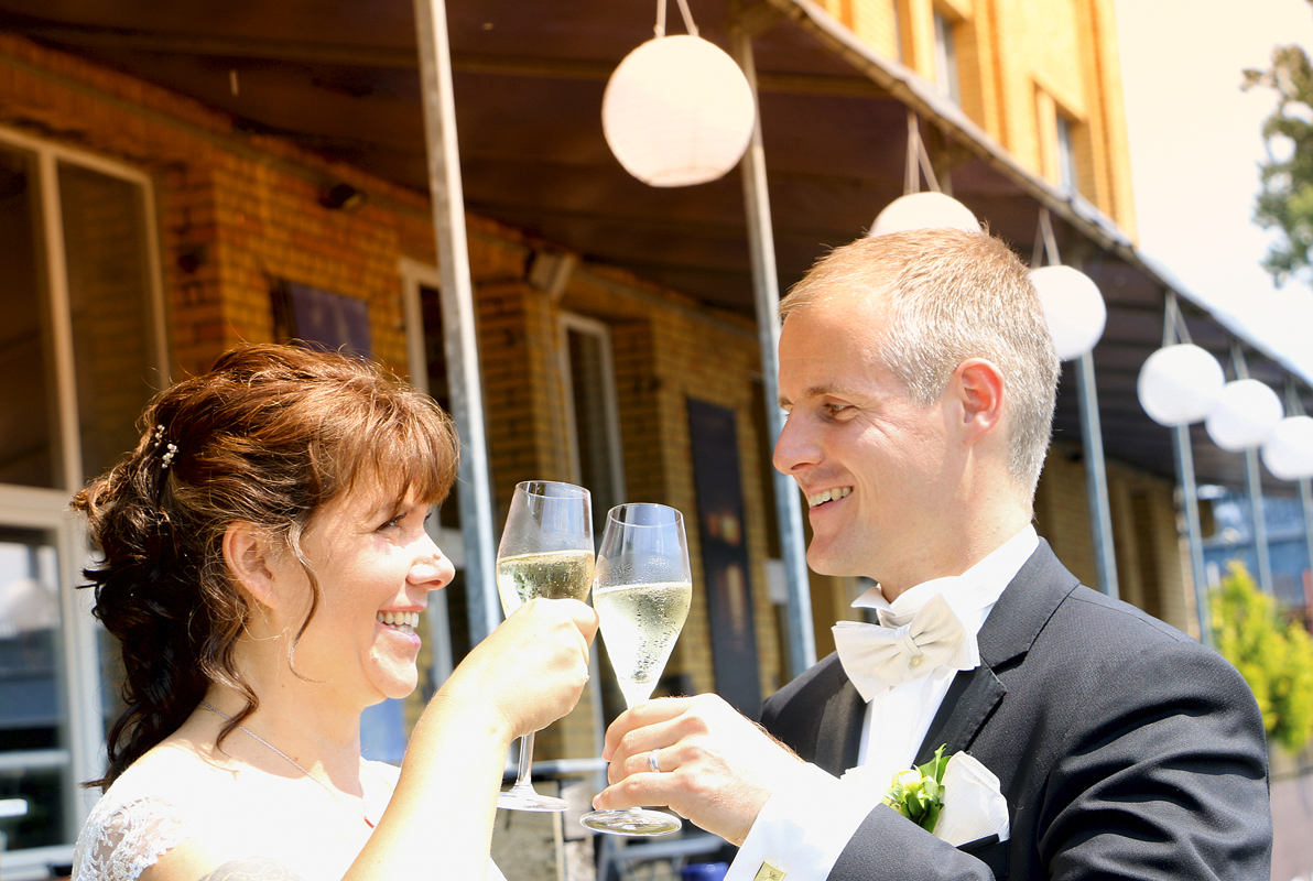
POLYGON ((716 695, 647 701, 607 730, 611 785, 593 807, 667 805, 742 844, 771 793, 802 760, 716 695), (656 751, 660 773, 649 755, 656 751))

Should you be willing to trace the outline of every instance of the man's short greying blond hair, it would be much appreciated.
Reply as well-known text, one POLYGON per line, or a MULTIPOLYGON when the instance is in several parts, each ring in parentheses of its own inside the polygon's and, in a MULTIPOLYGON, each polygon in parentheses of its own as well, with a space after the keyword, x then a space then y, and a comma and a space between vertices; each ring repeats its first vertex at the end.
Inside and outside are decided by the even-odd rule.
POLYGON ((1003 374, 1008 474, 1031 494, 1053 427, 1058 358, 1029 270, 983 232, 914 230, 835 248, 780 301, 780 319, 836 298, 884 295, 876 357, 920 407, 966 358, 1003 374))

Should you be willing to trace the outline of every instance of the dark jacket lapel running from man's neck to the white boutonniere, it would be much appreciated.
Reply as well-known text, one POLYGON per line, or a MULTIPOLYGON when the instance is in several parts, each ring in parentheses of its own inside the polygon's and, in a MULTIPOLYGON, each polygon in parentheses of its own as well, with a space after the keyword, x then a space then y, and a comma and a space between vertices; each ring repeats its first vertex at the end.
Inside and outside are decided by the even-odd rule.
POLYGON ((920 743, 916 764, 930 762, 940 744, 947 744, 944 755, 970 748, 1007 695, 997 671, 1029 651, 1058 604, 1077 584, 1075 575, 1064 569, 1041 538, 985 620, 977 637, 981 666, 953 677, 920 743))

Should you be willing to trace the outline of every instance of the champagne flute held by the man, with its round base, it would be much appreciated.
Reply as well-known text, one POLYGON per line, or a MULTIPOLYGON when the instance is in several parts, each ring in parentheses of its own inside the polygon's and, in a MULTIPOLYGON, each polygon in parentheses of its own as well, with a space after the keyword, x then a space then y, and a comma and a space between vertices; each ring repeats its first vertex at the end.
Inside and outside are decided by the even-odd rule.
MULTIPOLYGON (((692 599, 679 511, 651 503, 612 508, 597 553, 592 605, 626 706, 651 697, 692 599)), ((595 810, 580 822, 613 835, 664 835, 683 826, 672 814, 642 807, 595 810)))

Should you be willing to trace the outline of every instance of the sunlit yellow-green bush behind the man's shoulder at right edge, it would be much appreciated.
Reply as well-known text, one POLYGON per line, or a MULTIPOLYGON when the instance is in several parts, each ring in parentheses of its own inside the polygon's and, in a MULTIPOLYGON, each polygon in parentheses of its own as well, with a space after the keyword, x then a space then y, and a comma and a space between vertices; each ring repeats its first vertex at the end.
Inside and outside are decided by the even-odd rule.
POLYGON ((1281 620, 1239 562, 1228 566, 1209 609, 1217 651, 1253 689, 1268 742, 1299 752, 1313 739, 1313 638, 1300 621, 1281 620))

